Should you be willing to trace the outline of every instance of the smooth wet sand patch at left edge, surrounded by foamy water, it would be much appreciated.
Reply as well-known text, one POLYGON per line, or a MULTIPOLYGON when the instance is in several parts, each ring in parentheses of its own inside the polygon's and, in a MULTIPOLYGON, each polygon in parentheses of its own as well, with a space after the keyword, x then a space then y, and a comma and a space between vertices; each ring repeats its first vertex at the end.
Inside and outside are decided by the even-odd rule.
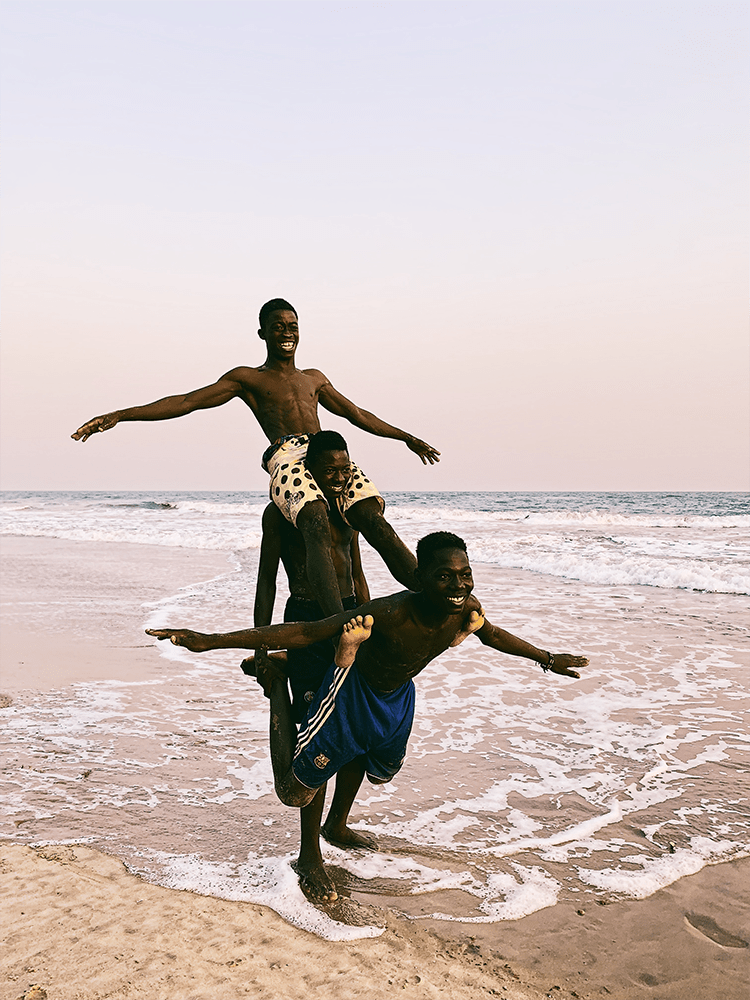
POLYGON ((0 553, 6 694, 153 676, 144 605, 233 569, 227 552, 134 542, 4 535, 0 553))

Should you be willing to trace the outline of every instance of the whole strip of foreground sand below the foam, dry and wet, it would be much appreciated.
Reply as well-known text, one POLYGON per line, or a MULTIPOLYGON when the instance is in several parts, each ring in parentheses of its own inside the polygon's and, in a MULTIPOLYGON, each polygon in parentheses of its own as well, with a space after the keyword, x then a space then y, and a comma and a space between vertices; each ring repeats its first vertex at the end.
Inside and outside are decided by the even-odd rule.
POLYGON ((274 1000, 332 988, 337 1000, 398 989, 425 1000, 744 1000, 750 971, 750 859, 703 869, 645 900, 588 914, 557 904, 489 925, 491 933, 459 925, 447 936, 432 921, 385 909, 380 937, 338 942, 256 903, 154 885, 82 844, 0 841, 0 873, 0 1000, 41 1000, 35 986, 48 1000, 213 1000, 227 988, 274 1000))

